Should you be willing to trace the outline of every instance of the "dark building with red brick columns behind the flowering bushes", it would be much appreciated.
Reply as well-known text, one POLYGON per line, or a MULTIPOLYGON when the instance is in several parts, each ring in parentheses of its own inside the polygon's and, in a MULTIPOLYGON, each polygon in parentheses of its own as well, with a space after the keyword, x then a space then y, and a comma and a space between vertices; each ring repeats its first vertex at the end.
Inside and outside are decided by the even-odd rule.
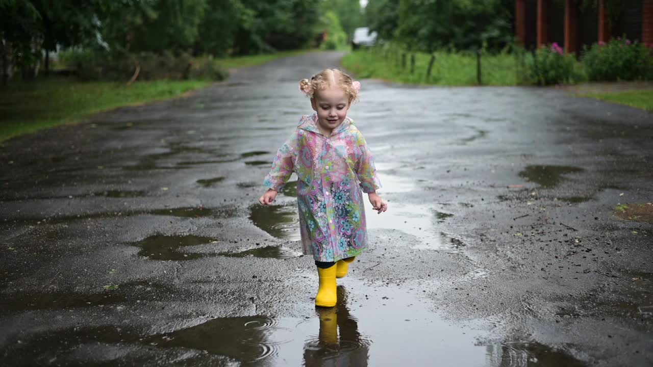
POLYGON ((605 0, 598 7, 581 8, 578 0, 515 0, 517 42, 526 48, 558 42, 565 52, 579 52, 582 45, 626 35, 653 44, 653 0, 631 2, 610 19, 605 0))

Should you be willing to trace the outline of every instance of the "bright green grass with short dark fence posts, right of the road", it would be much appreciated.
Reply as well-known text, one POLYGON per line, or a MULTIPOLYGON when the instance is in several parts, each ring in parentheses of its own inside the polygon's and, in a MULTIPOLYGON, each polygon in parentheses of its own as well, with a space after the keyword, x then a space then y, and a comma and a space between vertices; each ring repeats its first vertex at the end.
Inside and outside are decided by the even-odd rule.
MULTIPOLYGON (((415 53, 415 71, 410 72, 410 56, 406 68, 401 67, 401 54, 380 49, 357 50, 342 59, 342 66, 358 78, 377 78, 407 84, 433 84, 439 86, 476 86, 477 57, 472 54, 436 52, 436 61, 430 78, 426 69, 430 54, 415 53)), ((515 56, 483 55, 481 79, 486 86, 517 85, 515 56)))

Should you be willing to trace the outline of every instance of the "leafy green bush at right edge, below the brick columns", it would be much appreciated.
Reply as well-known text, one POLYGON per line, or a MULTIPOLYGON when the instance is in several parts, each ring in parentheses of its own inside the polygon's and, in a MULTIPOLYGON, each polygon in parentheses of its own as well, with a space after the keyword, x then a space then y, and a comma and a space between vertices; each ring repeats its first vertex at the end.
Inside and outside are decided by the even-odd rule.
POLYGON ((653 47, 620 37, 585 47, 582 63, 592 81, 653 79, 653 47))

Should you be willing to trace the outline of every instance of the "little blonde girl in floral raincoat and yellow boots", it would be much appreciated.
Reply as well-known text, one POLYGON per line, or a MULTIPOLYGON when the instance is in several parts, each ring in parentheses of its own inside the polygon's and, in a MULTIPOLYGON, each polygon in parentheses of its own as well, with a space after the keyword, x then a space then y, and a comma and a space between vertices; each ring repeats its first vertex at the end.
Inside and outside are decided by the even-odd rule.
POLYGON ((259 202, 270 205, 295 172, 299 223, 304 254, 312 254, 319 275, 315 305, 336 306, 336 278, 347 275, 349 263, 367 247, 361 189, 379 214, 388 204, 377 195, 381 187, 372 153, 347 110, 357 101, 360 82, 327 69, 299 82, 315 113, 305 115, 279 149, 268 187, 259 202), (360 185, 360 188, 359 188, 360 185))

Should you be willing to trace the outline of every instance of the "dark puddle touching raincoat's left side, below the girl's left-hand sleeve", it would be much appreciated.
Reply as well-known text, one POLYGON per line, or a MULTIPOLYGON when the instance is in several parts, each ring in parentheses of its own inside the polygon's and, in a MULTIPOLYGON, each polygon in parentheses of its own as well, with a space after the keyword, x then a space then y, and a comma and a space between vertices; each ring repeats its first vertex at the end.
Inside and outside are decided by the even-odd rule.
POLYGON ((250 210, 249 219, 263 231, 285 240, 300 239, 299 214, 295 203, 268 206, 255 204, 250 210))

